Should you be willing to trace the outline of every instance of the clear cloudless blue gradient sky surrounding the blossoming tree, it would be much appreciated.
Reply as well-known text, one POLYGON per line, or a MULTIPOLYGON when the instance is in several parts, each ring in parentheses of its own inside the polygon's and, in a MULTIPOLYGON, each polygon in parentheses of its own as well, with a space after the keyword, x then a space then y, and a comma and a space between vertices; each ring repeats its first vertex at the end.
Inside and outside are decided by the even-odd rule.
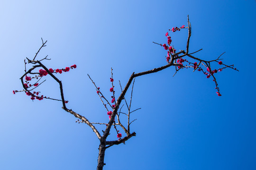
MULTIPOLYGON (((58 75, 67 107, 91 122, 108 121, 87 77, 110 96, 132 72, 166 64, 165 43, 173 26, 192 24, 190 51, 197 57, 234 64, 239 72, 218 73, 222 93, 199 72, 174 68, 138 77, 131 126, 137 136, 106 151, 104 170, 255 170, 256 169, 256 1, 255 0, 2 0, 0 6, 0 169, 95 170, 99 140, 91 128, 75 123, 60 102, 35 101, 23 93, 23 60, 51 58, 49 68, 73 64, 58 75)), ((187 30, 171 34, 184 50, 187 30)), ((40 89, 59 97, 47 79, 40 89)), ((117 93, 119 91, 117 90, 117 93)), ((123 120, 126 121, 126 120, 123 120)), ((99 126, 99 128, 103 128, 99 126)), ((122 132, 123 133, 123 132, 122 132)), ((114 131, 110 140, 116 140, 114 131)))

